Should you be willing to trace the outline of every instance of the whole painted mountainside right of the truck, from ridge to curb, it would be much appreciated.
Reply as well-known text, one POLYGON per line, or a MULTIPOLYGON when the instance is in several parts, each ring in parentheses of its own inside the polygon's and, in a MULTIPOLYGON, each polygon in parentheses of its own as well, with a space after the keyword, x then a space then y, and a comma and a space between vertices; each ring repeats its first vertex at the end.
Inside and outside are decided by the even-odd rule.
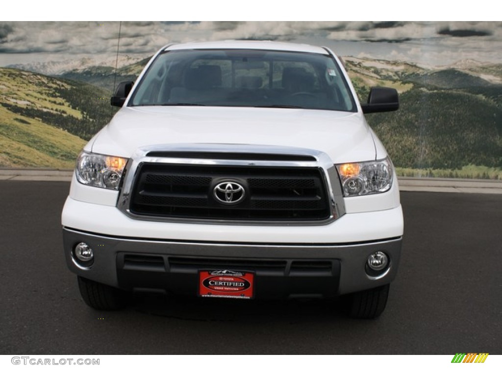
POLYGON ((502 178, 500 66, 427 70, 355 58, 346 65, 361 101, 371 86, 400 92, 397 112, 366 116, 398 171, 502 178))

